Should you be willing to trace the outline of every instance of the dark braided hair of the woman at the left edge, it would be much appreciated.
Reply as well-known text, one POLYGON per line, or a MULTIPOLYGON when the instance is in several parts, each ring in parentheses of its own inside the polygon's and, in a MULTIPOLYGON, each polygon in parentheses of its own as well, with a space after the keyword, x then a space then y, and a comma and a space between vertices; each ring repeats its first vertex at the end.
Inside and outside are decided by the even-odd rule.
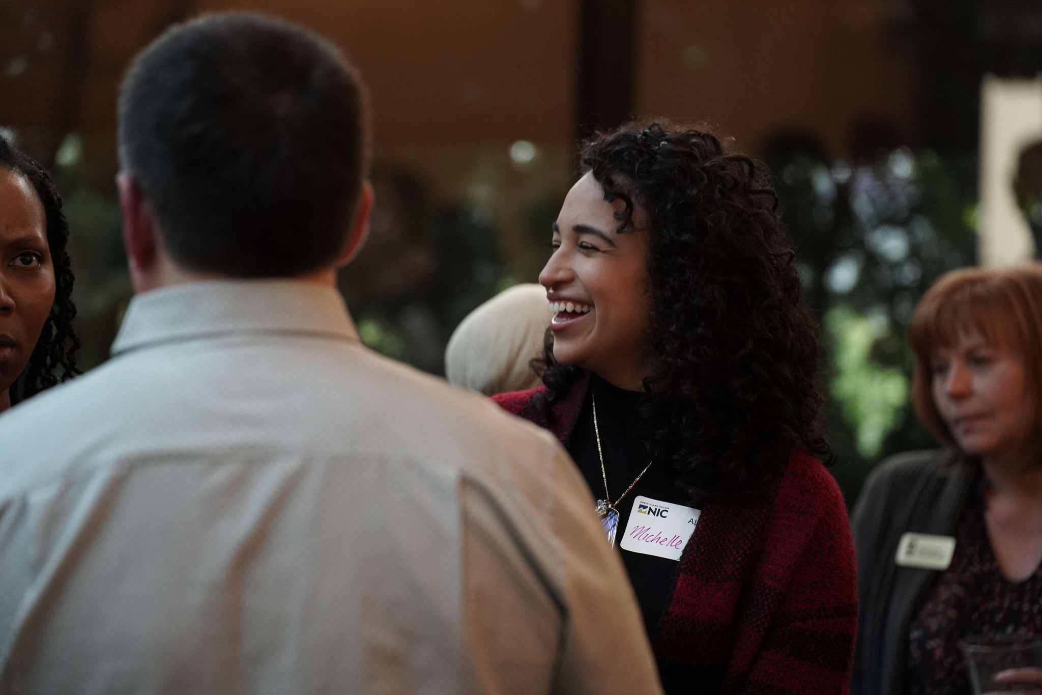
POLYGON ((74 321, 76 305, 72 301, 72 286, 75 279, 66 244, 69 241, 69 223, 61 212, 61 196, 58 195, 51 177, 31 157, 17 149, 0 136, 0 166, 17 171, 32 184, 47 217, 47 245, 50 247, 54 264, 54 304, 47 317, 40 340, 29 355, 25 371, 10 387, 11 405, 44 389, 66 381, 76 374, 76 338, 74 321))

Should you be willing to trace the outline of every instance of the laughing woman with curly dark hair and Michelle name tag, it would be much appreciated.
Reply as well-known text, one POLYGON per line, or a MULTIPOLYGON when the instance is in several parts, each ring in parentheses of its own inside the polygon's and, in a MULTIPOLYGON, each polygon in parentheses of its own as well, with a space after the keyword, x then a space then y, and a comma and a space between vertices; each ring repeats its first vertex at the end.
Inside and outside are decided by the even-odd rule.
POLYGON ((571 452, 667 692, 845 692, 853 551, 766 175, 661 122, 596 136, 581 170, 540 275, 543 386, 496 401, 571 452))

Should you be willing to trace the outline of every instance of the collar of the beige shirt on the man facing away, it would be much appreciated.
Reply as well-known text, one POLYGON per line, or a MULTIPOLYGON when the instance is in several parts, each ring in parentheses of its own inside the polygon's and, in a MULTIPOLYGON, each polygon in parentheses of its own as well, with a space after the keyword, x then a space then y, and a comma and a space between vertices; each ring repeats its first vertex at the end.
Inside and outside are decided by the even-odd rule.
POLYGON ((243 332, 358 340, 344 298, 332 288, 291 279, 202 280, 137 295, 111 353, 243 332))

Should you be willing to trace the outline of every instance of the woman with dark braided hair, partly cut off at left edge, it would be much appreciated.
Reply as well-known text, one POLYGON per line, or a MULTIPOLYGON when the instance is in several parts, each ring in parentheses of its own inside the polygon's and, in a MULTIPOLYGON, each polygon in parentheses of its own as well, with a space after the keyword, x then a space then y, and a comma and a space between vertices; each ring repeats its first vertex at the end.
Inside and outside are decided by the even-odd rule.
POLYGON ((0 138, 0 413, 78 374, 68 239, 47 172, 0 138))

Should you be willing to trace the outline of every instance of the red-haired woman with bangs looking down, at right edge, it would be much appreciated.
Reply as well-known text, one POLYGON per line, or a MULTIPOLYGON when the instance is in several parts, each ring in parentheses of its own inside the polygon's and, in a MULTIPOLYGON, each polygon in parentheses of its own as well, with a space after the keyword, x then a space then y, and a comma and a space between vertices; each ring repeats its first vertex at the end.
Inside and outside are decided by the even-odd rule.
MULTIPOLYGON (((944 275, 911 343, 915 411, 943 448, 883 463, 853 511, 852 690, 969 695, 961 641, 1042 639, 1042 265, 944 275)), ((1037 692, 1042 663, 1024 665, 1006 686, 1037 692)))

